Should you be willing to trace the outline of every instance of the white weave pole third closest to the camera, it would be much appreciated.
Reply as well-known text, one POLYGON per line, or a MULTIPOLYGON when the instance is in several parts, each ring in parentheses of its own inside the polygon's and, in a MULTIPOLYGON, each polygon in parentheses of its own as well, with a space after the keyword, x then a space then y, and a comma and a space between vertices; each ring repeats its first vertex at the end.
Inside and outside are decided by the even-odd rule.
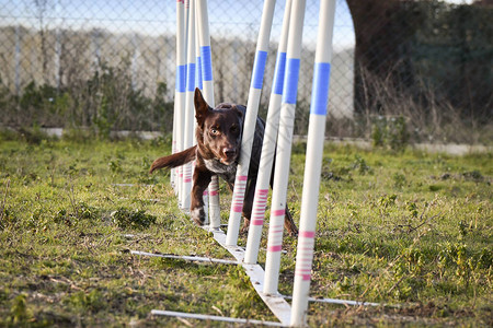
POLYGON ((289 33, 289 15, 291 12, 291 0, 286 1, 283 17, 283 28, 277 49, 276 67, 274 69, 274 81, 272 83, 271 99, 268 102, 267 120, 265 122, 264 142, 259 164, 259 176, 256 179, 255 198, 252 206, 252 218, 250 220, 249 237, 244 262, 254 265, 259 258, 259 247, 264 224, 265 207, 267 204, 268 185, 272 175, 272 164, 276 149, 277 128, 279 125, 280 102, 283 97, 284 73, 286 69, 287 36, 289 33))

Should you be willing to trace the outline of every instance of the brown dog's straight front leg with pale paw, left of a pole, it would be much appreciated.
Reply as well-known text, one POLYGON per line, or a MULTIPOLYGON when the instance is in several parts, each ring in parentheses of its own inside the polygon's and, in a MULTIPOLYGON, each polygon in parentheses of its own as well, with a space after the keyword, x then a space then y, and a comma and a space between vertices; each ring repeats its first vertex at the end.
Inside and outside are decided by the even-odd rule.
POLYGON ((194 171, 194 184, 192 187, 190 214, 197 225, 204 225, 204 191, 210 183, 211 174, 205 166, 196 165, 194 171))

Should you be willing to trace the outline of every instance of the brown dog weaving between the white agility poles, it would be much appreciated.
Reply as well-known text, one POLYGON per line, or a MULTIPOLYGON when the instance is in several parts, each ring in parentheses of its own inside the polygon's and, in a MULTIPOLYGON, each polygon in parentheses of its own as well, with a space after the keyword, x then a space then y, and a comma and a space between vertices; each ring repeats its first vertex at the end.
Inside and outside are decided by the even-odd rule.
MULTIPOLYGON (((226 180, 231 190, 234 188, 246 108, 234 104, 219 104, 213 109, 207 105, 198 89, 195 90, 194 103, 195 118, 197 119, 195 130, 197 144, 182 152, 156 160, 151 165, 150 173, 162 167, 181 166, 195 160, 190 212, 195 223, 203 225, 205 220, 203 194, 209 185, 211 176, 217 174, 226 180)), ((244 218, 243 231, 250 224, 264 130, 265 122, 257 117, 242 212, 244 218)), ((287 207, 284 226, 290 235, 298 233, 287 207)))

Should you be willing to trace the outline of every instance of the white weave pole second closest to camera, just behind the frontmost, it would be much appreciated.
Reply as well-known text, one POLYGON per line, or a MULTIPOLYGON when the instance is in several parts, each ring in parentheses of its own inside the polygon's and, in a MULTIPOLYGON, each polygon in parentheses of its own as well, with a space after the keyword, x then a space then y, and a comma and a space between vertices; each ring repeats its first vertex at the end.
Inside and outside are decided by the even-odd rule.
POLYGON ((305 0, 294 0, 289 19, 286 75, 284 79, 283 101, 280 105, 276 166, 271 204, 271 222, 268 225, 267 258, 265 262, 264 293, 266 294, 277 294, 279 281, 280 250, 283 245, 293 129, 295 125, 296 98, 298 93, 305 7, 305 0))

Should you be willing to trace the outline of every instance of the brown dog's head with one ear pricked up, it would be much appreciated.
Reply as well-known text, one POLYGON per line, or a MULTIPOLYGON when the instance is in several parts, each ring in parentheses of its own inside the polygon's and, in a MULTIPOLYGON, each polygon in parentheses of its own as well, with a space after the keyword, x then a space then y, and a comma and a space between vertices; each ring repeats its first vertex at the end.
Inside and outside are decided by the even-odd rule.
POLYGON ((243 128, 243 107, 220 104, 213 109, 198 89, 195 89, 194 102, 197 142, 207 148, 222 164, 230 165, 238 162, 243 128))

